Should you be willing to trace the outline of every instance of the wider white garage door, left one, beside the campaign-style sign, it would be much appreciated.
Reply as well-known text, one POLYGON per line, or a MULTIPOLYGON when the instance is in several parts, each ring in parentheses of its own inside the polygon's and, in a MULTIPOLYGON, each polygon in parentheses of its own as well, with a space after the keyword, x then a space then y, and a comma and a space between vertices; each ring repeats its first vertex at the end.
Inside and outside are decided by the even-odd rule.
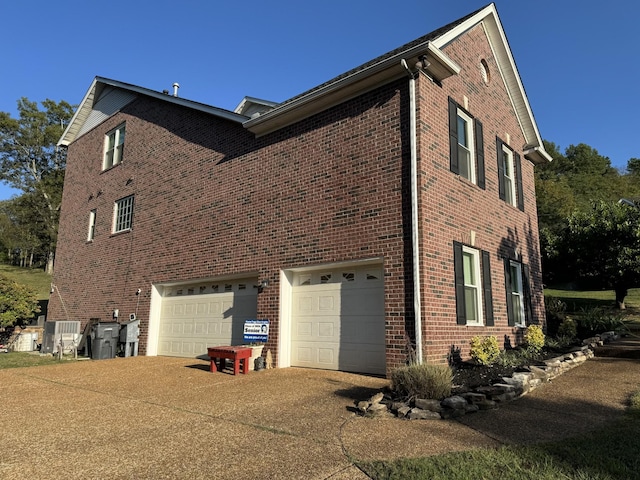
POLYGON ((244 321, 255 319, 255 279, 166 288, 158 355, 197 357, 207 347, 242 343, 244 321))

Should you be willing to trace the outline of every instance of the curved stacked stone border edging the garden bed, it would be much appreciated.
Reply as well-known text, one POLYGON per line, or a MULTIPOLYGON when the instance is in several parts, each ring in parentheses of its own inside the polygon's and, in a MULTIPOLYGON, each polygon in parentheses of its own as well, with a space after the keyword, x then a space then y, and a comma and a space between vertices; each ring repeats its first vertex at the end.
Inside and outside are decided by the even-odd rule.
POLYGON ((444 400, 415 398, 398 401, 389 394, 379 392, 369 400, 357 402, 356 407, 365 416, 386 415, 407 420, 458 418, 479 410, 492 410, 501 403, 526 395, 593 358, 595 347, 602 345, 603 339, 591 338, 585 343, 587 344, 571 352, 544 360, 539 365, 523 367, 523 371, 514 372, 510 377, 502 377, 502 381, 498 383, 477 387, 444 400))

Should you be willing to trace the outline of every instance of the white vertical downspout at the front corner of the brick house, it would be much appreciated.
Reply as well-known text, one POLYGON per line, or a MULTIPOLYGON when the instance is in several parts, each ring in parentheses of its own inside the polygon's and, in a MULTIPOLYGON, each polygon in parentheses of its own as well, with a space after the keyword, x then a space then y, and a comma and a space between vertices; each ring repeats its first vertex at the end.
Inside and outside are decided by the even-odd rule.
POLYGON ((409 145, 411 150, 411 246, 413 252, 413 311, 415 315, 416 363, 422 363, 422 308, 420 302, 420 243, 418 232, 418 147, 416 134, 416 73, 400 61, 409 75, 409 145))

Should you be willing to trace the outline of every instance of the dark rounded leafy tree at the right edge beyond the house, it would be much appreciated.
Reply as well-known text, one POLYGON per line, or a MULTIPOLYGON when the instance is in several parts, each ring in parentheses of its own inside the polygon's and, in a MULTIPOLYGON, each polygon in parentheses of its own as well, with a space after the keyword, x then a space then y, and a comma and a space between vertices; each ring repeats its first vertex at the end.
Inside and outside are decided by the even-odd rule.
POLYGON ((625 308, 629 288, 640 285, 640 209, 599 201, 576 211, 561 233, 557 255, 590 288, 613 289, 618 308, 625 308))

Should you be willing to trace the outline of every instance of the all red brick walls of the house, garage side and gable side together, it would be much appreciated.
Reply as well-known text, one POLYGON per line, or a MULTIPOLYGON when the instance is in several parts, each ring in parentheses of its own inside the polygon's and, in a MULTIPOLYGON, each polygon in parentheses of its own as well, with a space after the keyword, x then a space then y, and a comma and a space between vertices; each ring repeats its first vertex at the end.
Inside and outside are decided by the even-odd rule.
MULTIPOLYGON (((498 197, 495 137, 510 136, 521 155, 524 138, 484 31, 474 28, 445 52, 461 74, 442 85, 417 81, 429 362, 446 361, 452 347, 467 356, 473 335, 517 342, 521 331, 507 326, 502 260, 514 247, 531 267, 539 321, 544 310, 533 165, 524 157, 525 211, 498 197), (488 85, 481 59, 489 64, 488 85), (462 105, 466 96, 483 123, 485 190, 449 170, 449 96, 462 105), (453 241, 469 243, 471 230, 476 247, 491 254, 494 327, 456 324, 453 241)), ((107 320, 114 308, 137 310, 144 354, 153 284, 257 273, 270 281, 258 296, 258 315, 272 321, 268 348, 277 355, 282 269, 379 257, 387 368, 404 364, 405 333, 413 337, 414 329, 408 106, 402 78, 256 139, 238 124, 139 98, 69 147, 49 320, 107 320), (122 122, 124 161, 101 172, 104 135, 122 122), (133 229, 111 235, 114 201, 130 194, 133 229), (96 236, 86 242, 91 209, 96 236)))

